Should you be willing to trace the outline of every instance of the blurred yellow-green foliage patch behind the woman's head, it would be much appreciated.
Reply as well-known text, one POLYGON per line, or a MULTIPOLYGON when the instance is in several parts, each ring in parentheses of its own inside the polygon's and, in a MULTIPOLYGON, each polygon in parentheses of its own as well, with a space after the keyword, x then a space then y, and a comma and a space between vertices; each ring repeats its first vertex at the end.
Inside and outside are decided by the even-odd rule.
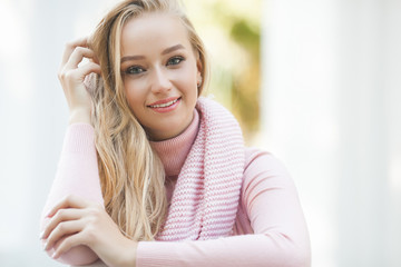
POLYGON ((206 93, 232 110, 247 144, 260 127, 261 1, 184 1, 211 59, 206 93))

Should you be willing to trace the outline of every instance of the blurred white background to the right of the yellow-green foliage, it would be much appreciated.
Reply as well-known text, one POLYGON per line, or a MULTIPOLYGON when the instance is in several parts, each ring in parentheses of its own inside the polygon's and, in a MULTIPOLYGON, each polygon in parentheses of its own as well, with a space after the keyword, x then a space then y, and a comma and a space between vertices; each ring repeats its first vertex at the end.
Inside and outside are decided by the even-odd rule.
POLYGON ((401 1, 264 4, 261 140, 294 177, 313 266, 401 266, 401 1))

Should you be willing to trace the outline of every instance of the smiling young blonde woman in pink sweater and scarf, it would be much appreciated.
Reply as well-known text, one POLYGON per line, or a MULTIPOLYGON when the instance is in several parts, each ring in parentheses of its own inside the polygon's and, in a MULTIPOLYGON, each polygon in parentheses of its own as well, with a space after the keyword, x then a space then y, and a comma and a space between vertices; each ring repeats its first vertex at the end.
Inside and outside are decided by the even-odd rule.
POLYGON ((41 240, 66 264, 309 266, 293 181, 199 97, 205 49, 174 0, 126 0, 66 47, 70 125, 41 240), (84 58, 87 65, 79 65, 84 58))

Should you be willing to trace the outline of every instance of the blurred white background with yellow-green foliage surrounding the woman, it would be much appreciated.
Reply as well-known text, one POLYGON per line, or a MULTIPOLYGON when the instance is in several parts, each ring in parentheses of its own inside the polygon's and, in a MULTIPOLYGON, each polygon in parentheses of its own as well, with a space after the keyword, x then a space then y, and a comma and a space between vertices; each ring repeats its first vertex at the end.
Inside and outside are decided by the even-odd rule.
MULTIPOLYGON (((39 215, 68 113, 57 70, 113 0, 0 0, 0 266, 61 266, 39 215)), ((401 266, 401 0, 185 0, 207 93, 292 174, 315 267, 401 266)))

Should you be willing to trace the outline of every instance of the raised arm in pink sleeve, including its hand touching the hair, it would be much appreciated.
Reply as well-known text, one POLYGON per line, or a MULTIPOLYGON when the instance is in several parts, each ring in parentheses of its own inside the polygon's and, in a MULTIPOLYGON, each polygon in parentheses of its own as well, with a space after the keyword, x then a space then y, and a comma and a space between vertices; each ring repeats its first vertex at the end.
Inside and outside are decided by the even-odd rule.
MULTIPOLYGON (((100 73, 100 67, 94 62, 95 53, 88 48, 88 39, 81 38, 66 44, 58 78, 69 108, 69 122, 77 123, 68 128, 50 194, 41 216, 41 238, 43 246, 45 229, 50 221, 47 212, 69 195, 85 197, 102 205, 99 185, 94 129, 90 123, 91 99, 84 85, 89 73, 100 73), (79 66, 84 58, 90 62, 79 66)), ((46 237, 47 238, 47 237, 46 237)), ((55 249, 48 249, 52 255, 55 249)), ((97 256, 86 246, 78 246, 60 257, 66 263, 89 263, 97 256), (72 260, 72 261, 71 261, 72 260)))

